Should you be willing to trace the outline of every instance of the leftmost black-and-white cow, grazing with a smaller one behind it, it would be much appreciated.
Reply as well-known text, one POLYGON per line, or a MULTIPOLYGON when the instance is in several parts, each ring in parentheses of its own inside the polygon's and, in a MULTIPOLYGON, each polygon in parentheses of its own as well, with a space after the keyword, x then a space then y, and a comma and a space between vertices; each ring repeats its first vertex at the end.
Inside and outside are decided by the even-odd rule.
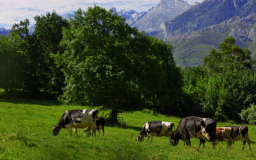
MULTIPOLYGON (((90 127, 95 134, 95 123, 99 111, 96 109, 74 109, 66 111, 57 125, 53 126, 52 136, 57 136, 61 129, 65 128, 72 134, 72 128, 77 134, 77 128, 90 127)), ((78 135, 77 135, 78 136, 78 135)))

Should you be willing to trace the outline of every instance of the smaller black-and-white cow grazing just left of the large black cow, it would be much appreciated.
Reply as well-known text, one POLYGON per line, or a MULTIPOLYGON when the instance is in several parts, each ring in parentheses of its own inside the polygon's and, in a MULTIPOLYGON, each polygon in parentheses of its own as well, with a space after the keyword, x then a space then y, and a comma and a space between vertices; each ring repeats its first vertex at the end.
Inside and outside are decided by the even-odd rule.
POLYGON ((153 136, 170 136, 173 134, 174 124, 172 122, 152 121, 143 125, 140 134, 136 137, 136 141, 143 141, 147 136, 150 141, 153 141, 153 136))

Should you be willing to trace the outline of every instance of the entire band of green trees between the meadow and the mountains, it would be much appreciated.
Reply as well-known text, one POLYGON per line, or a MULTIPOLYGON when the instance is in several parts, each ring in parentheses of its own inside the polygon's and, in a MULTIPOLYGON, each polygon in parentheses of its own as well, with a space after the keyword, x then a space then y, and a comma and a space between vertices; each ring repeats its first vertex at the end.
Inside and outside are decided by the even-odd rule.
POLYGON ((204 64, 181 68, 173 47, 131 28, 99 6, 65 20, 56 12, 14 24, 0 36, 4 97, 53 97, 118 113, 150 109, 172 116, 256 123, 256 60, 228 37, 204 64))

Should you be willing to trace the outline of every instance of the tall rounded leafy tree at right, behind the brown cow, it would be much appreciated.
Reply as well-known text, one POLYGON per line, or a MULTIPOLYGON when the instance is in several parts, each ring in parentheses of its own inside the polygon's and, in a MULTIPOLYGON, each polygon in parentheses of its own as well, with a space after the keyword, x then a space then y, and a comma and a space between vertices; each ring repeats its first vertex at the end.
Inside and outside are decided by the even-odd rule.
POLYGON ((205 84, 204 110, 219 120, 239 121, 238 113, 255 102, 255 77, 250 51, 236 45, 233 37, 228 37, 218 47, 205 56, 204 68, 209 72, 205 84), (252 87, 250 87, 252 86, 252 87))

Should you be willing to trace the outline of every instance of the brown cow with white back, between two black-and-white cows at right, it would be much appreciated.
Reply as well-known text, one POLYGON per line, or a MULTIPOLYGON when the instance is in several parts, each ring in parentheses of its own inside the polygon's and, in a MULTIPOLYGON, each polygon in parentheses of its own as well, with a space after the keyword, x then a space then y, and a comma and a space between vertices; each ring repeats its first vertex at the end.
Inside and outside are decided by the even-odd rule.
POLYGON ((234 139, 234 129, 232 127, 216 127, 216 144, 219 141, 226 141, 227 148, 231 147, 232 140, 234 139))

